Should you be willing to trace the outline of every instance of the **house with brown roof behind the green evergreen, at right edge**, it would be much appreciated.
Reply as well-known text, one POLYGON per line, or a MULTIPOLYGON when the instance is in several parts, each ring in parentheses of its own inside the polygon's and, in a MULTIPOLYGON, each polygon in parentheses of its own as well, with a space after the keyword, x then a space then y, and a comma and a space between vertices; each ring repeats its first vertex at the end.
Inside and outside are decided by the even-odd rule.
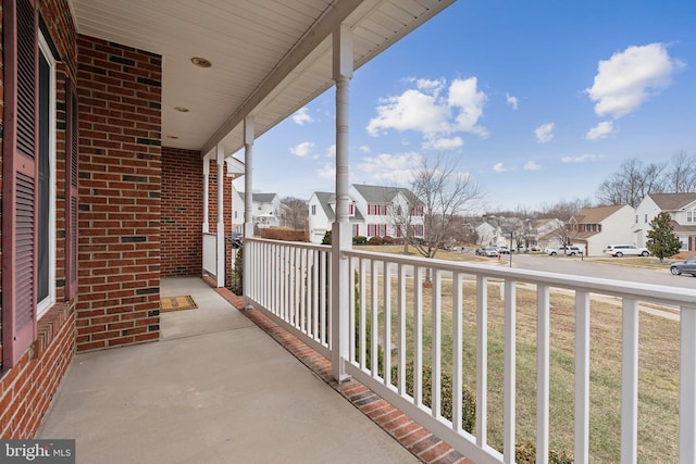
POLYGON ((635 209, 632 231, 638 247, 647 243, 650 222, 661 212, 672 216, 674 234, 682 241, 679 258, 696 255, 696 193, 649 193, 635 209))

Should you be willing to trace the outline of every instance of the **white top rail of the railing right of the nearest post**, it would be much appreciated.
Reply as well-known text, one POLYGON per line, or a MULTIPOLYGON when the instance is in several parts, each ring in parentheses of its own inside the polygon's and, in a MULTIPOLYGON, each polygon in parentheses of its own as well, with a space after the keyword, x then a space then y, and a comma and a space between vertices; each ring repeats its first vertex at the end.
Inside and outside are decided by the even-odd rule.
POLYGON ((446 272, 457 272, 475 276, 512 279, 529 284, 569 288, 594 293, 605 293, 639 301, 688 308, 696 311, 696 289, 667 287, 654 284, 636 284, 627 280, 586 277, 572 274, 557 274, 544 271, 515 269, 485 264, 462 263, 421 256, 402 256, 390 253, 350 250, 344 251, 349 258, 377 260, 387 263, 419 266, 446 272))

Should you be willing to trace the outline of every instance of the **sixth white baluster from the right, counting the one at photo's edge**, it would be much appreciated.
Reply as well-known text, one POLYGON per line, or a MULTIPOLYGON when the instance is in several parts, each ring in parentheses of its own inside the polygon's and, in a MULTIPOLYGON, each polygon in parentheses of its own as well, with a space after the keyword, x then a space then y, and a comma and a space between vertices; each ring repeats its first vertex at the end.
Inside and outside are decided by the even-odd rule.
POLYGON ((476 276, 476 444, 488 444, 488 278, 476 276))

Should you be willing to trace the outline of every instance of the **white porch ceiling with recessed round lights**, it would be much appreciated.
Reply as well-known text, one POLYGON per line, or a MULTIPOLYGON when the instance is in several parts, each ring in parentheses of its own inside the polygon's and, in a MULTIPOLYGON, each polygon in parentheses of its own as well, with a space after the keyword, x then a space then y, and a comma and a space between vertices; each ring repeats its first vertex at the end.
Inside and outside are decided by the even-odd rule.
POLYGON ((162 145, 226 154, 243 121, 259 137, 333 86, 332 32, 348 25, 355 68, 455 0, 72 0, 77 32, 159 53, 162 145), (212 67, 191 64, 192 57, 212 67), (187 108, 187 113, 174 110, 187 108))

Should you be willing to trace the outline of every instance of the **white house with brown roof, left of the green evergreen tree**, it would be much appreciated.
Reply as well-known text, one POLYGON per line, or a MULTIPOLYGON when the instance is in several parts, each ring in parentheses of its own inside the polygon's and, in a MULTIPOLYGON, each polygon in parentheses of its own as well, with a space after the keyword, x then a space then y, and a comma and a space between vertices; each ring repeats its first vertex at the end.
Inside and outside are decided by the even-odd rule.
POLYGON ((612 243, 636 244, 631 231, 635 216, 633 206, 585 208, 568 222, 568 238, 572 244, 585 247, 585 254, 598 255, 612 243))

